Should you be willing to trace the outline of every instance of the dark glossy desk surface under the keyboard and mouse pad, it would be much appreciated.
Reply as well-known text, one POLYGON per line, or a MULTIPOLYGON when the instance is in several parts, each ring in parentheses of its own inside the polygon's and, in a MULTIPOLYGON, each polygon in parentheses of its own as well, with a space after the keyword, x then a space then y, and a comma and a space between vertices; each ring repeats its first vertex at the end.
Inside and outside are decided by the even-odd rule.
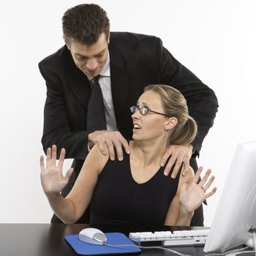
MULTIPOLYGON (((78 234, 85 224, 0 224, 0 255, 3 256, 75 256, 72 248, 64 241, 64 236, 78 234)), ((95 227, 95 226, 94 226, 95 227)), ((103 232, 121 232, 126 235, 132 231, 176 230, 177 227, 97 227, 103 232)), ((180 228, 178 228, 180 229, 180 228)), ((181 228, 182 229, 182 228, 181 228)), ((184 229, 184 228, 183 228, 184 229)), ((172 247, 189 255, 206 255, 203 246, 172 247)), ((140 255, 176 255, 162 249, 143 249, 140 255)), ((248 254, 246 255, 248 256, 248 254)))

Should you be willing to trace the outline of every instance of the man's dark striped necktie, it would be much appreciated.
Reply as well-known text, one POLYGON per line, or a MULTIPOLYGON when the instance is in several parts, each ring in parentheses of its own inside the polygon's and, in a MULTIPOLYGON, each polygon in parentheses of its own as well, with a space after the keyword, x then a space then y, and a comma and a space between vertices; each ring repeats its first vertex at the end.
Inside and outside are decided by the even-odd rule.
POLYGON ((97 75, 90 81, 91 97, 88 102, 87 110, 87 131, 92 132, 107 129, 102 89, 99 86, 99 77, 100 75, 97 75))

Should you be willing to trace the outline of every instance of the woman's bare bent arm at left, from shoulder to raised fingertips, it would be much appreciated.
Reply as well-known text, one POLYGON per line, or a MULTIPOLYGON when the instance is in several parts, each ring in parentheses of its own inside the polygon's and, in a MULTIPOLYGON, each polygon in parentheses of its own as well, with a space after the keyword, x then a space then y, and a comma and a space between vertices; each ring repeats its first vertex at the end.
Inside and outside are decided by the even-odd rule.
POLYGON ((80 219, 89 205, 99 173, 108 161, 108 155, 102 155, 96 144, 86 157, 74 187, 64 198, 60 192, 72 173, 72 169, 69 169, 67 175, 62 176, 64 154, 62 149, 59 164, 56 165, 56 146, 48 148, 46 167, 43 157, 40 157, 41 182, 50 206, 59 219, 65 223, 74 223, 80 219))

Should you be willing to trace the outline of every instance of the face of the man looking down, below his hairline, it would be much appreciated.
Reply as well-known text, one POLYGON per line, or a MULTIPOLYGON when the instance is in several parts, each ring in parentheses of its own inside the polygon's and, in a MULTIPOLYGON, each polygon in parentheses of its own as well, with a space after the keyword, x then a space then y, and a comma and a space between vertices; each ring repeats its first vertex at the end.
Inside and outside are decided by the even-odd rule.
POLYGON ((108 40, 105 33, 100 34, 98 41, 90 46, 71 38, 67 48, 77 67, 89 78, 99 75, 108 57, 108 40))

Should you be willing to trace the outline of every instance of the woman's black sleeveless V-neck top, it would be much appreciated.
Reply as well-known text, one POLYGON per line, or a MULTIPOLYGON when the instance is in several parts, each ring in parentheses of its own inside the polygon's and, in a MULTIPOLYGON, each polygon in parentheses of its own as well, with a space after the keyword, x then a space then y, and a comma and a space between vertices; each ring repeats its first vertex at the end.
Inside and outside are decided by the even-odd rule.
POLYGON ((128 154, 124 153, 123 161, 109 159, 92 195, 91 224, 162 225, 180 173, 173 179, 164 175, 164 169, 138 184, 132 178, 128 154))

